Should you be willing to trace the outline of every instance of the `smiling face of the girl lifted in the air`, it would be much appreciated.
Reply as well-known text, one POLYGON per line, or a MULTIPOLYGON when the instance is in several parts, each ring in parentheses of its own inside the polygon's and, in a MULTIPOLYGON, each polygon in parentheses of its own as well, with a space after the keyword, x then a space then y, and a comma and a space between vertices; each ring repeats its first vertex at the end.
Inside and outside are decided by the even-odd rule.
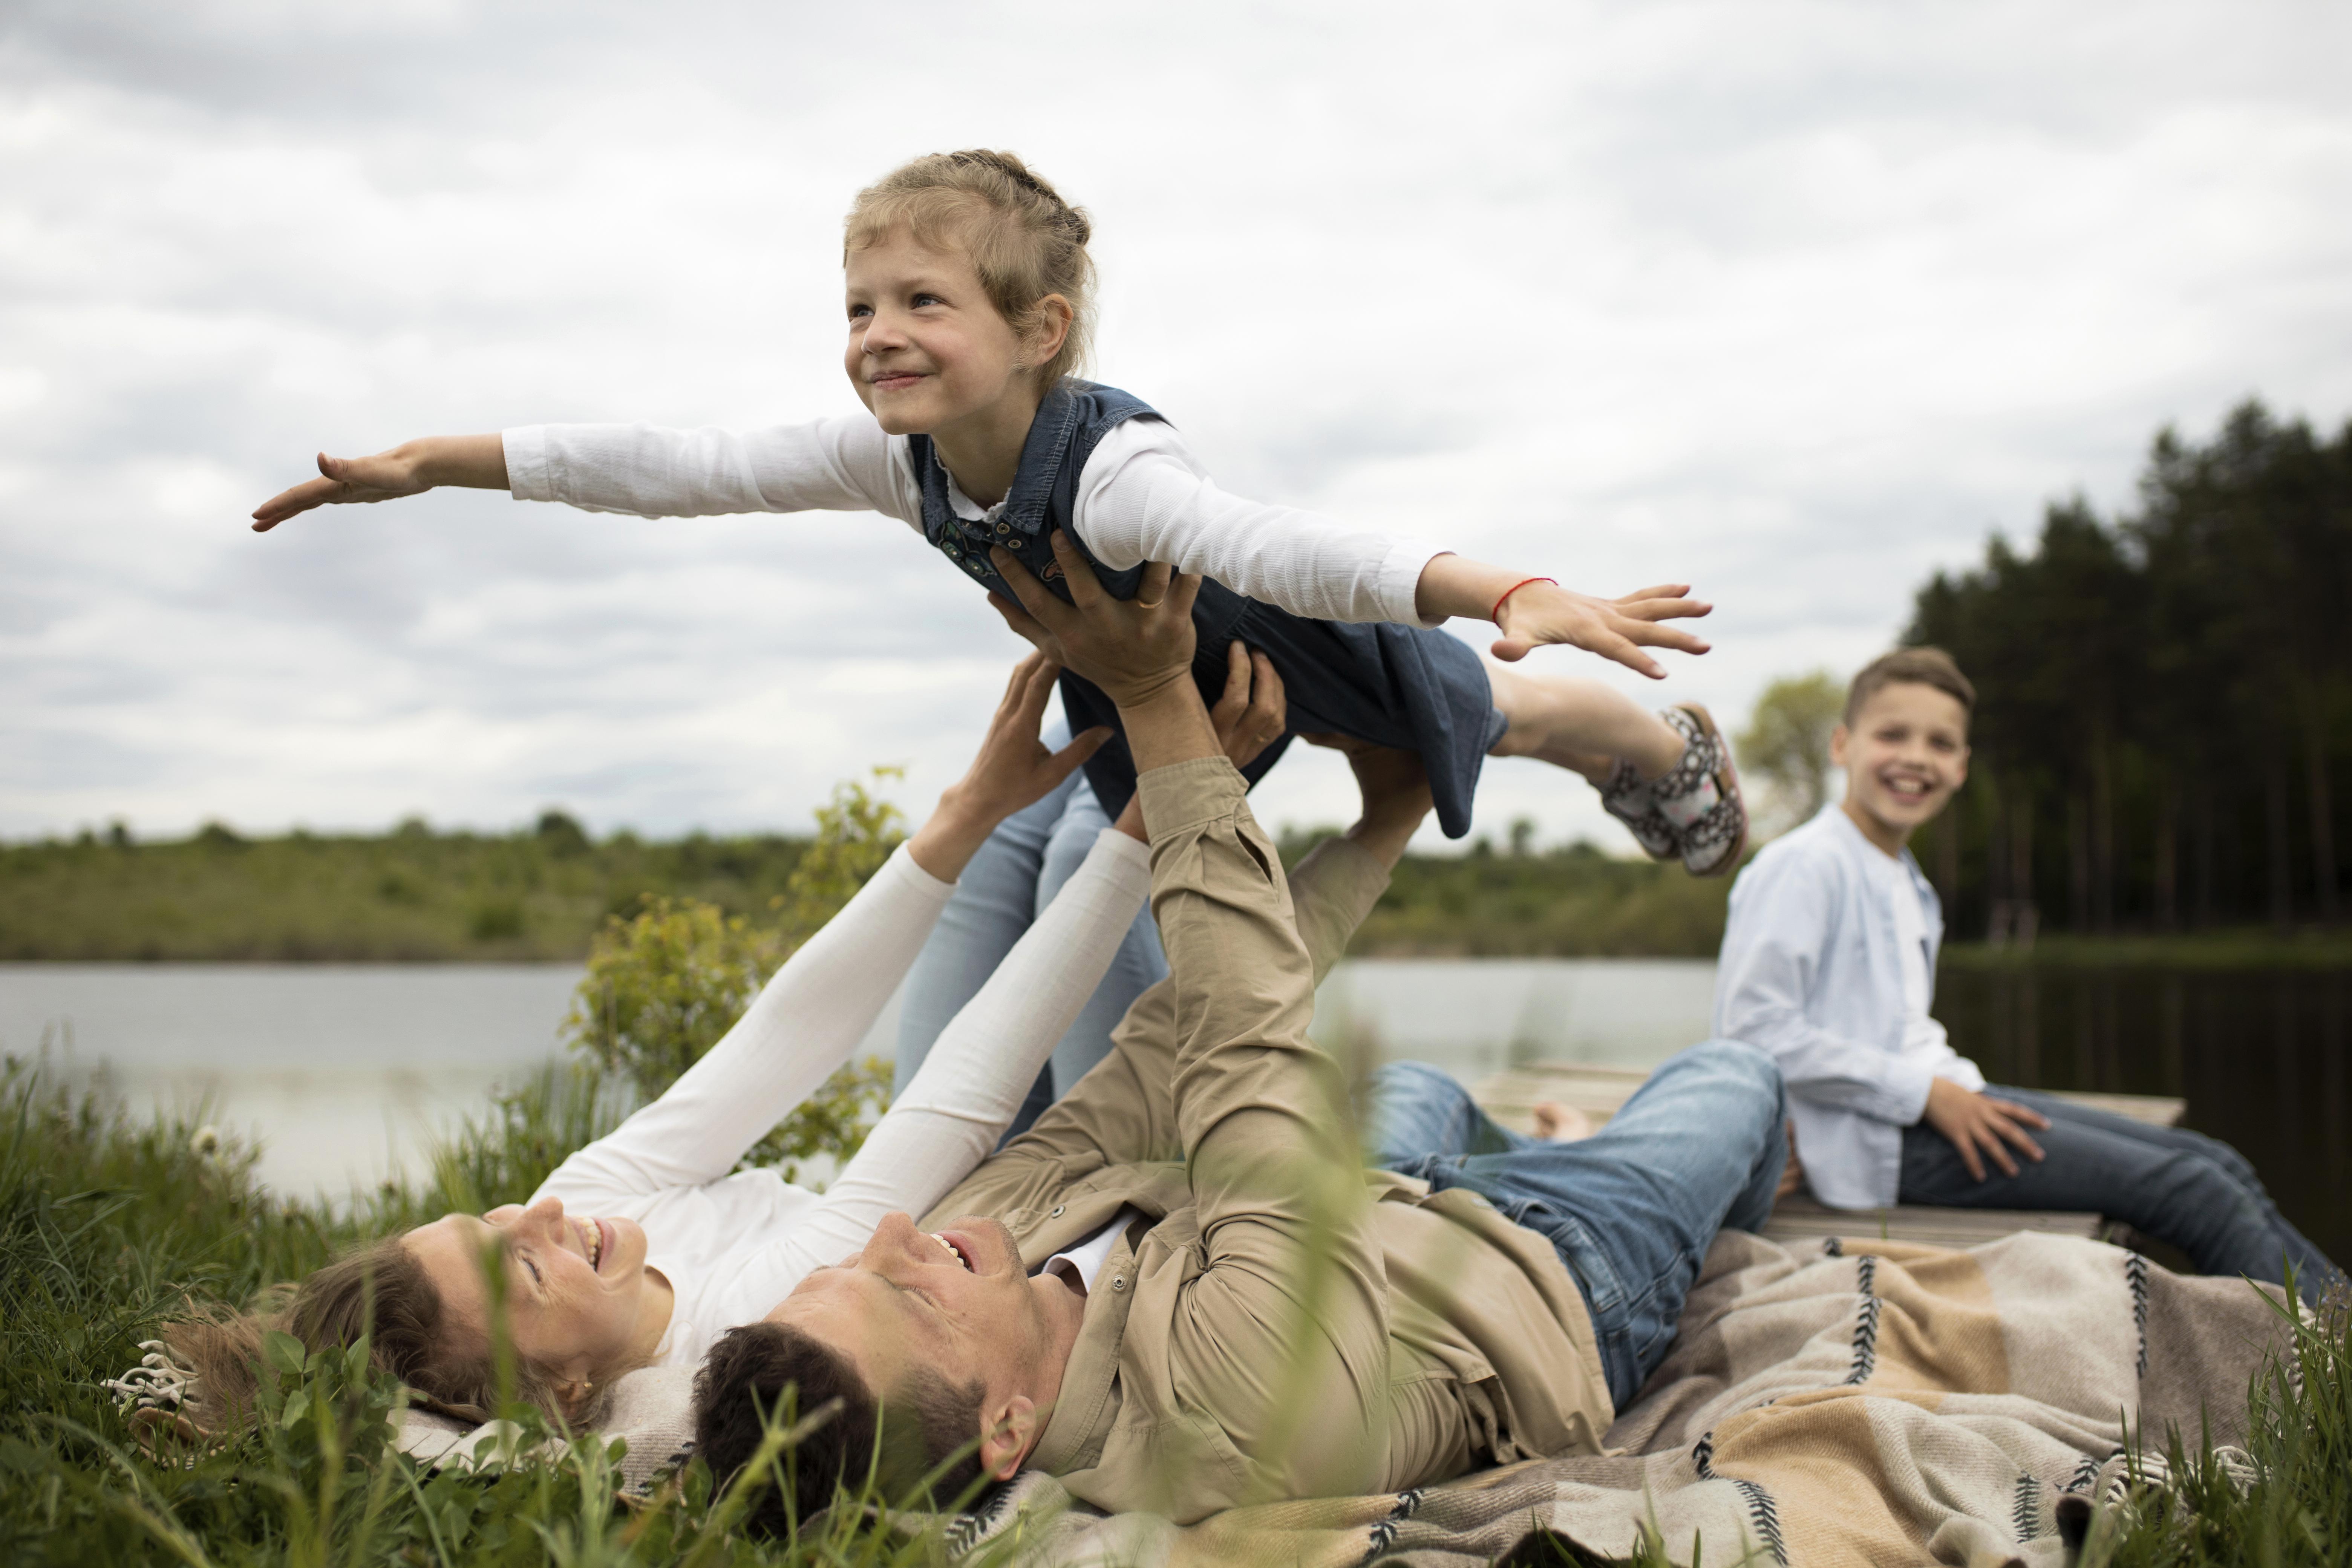
POLYGON ((962 252, 915 244, 903 228, 849 252, 849 350, 858 402, 891 435, 941 435, 1037 411, 1040 357, 988 303, 962 252))

